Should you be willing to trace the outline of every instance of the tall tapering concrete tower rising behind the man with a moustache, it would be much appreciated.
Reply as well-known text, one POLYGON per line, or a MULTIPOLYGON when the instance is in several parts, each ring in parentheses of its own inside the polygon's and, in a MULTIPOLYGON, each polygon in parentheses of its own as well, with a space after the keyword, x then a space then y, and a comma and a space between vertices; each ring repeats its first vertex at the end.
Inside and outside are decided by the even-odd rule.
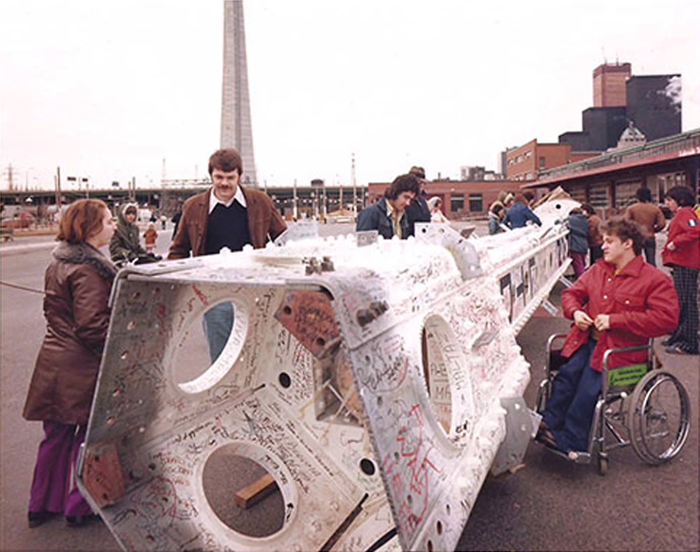
POLYGON ((243 0, 223 3, 223 85, 221 90, 221 148, 235 148, 243 159, 241 182, 257 186, 253 156, 251 99, 248 93, 243 0))

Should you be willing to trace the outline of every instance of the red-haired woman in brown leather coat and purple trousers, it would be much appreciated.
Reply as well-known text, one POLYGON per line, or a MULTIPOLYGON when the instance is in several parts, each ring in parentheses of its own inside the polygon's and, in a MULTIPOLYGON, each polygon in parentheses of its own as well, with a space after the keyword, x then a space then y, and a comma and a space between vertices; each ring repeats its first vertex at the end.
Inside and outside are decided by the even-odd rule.
POLYGON ((23 412, 41 420, 39 445, 29 499, 29 527, 63 513, 69 525, 92 515, 74 476, 85 439, 92 394, 109 326, 107 302, 116 274, 99 251, 114 232, 104 202, 78 200, 61 217, 58 247, 45 272, 46 334, 31 376, 23 412))

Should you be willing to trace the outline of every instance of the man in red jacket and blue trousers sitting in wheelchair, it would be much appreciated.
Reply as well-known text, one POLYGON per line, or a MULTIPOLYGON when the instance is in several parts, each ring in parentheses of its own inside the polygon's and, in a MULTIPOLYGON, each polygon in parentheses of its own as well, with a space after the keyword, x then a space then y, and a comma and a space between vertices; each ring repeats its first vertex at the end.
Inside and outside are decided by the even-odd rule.
MULTIPOLYGON (((603 258, 561 294, 563 314, 573 319, 561 350, 568 361, 554 378, 537 436, 566 454, 587 449, 605 350, 645 345, 678 323, 673 282, 645 263, 637 223, 615 217, 601 225, 601 232, 603 258)), ((609 367, 643 362, 646 354, 612 354, 609 367)))

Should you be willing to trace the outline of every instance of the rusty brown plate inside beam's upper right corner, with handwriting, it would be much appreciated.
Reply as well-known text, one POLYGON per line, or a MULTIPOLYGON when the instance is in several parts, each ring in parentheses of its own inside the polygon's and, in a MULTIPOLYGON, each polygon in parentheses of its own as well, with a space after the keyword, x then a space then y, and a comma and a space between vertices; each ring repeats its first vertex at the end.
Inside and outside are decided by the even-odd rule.
POLYGON ((317 359, 339 343, 330 298, 321 291, 290 291, 274 317, 317 359))

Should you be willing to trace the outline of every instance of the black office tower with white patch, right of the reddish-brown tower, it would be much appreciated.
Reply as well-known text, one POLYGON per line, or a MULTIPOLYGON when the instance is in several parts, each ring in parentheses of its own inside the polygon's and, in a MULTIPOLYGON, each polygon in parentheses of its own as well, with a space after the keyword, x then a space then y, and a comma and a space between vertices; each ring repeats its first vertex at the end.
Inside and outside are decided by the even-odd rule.
POLYGON ((680 111, 680 74, 628 79, 627 118, 647 140, 679 134, 680 111))

